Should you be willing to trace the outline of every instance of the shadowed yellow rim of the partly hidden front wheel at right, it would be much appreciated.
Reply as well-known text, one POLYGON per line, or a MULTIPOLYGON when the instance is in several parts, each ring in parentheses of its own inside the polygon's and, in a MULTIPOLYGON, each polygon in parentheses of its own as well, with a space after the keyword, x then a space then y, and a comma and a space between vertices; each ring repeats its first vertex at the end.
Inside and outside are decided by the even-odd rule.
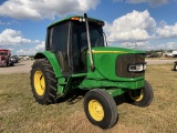
POLYGON ((144 92, 142 89, 139 89, 139 90, 131 91, 129 95, 131 95, 131 99, 133 99, 136 102, 139 102, 144 98, 144 92))

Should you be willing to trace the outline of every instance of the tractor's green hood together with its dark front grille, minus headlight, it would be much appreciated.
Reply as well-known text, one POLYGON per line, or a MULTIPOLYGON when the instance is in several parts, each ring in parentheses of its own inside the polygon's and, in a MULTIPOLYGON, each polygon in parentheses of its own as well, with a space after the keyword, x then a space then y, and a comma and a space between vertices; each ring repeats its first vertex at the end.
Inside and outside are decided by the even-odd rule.
MULTIPOLYGON (((91 76, 116 81, 144 76, 144 71, 137 73, 128 72, 128 68, 132 64, 142 64, 143 66, 146 64, 144 51, 113 47, 97 47, 92 48, 92 54, 95 71, 88 72, 91 76)), ((87 68, 91 68, 88 52, 87 64, 87 68)))

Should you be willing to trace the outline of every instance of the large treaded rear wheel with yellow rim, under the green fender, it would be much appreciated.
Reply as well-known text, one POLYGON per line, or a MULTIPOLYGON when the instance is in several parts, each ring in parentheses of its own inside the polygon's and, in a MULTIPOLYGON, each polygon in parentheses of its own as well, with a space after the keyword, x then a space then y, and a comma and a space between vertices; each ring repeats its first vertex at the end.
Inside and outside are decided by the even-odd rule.
POLYGON ((50 62, 37 60, 31 70, 31 88, 35 101, 40 104, 56 102, 58 82, 50 62))

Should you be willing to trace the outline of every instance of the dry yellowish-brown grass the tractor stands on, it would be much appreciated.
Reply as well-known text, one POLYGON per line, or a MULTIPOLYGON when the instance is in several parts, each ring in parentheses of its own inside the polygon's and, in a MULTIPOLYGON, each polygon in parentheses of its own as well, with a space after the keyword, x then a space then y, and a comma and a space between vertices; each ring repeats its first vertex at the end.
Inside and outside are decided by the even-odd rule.
POLYGON ((106 131, 87 121, 83 99, 40 105, 31 93, 30 74, 0 74, 0 133, 175 133, 177 72, 171 68, 149 65, 146 80, 154 88, 153 103, 147 108, 119 104, 119 120, 106 131))

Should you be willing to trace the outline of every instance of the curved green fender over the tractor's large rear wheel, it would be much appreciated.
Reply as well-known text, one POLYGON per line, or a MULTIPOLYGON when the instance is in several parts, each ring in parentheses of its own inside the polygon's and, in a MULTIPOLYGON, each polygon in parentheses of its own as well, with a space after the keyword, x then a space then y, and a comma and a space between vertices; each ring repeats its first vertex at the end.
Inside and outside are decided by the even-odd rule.
POLYGON ((44 52, 38 52, 34 57, 34 59, 44 59, 44 58, 46 58, 49 62, 51 63, 53 71, 55 73, 55 76, 61 78, 62 76, 61 66, 59 64, 59 61, 55 54, 50 51, 44 51, 44 52))

